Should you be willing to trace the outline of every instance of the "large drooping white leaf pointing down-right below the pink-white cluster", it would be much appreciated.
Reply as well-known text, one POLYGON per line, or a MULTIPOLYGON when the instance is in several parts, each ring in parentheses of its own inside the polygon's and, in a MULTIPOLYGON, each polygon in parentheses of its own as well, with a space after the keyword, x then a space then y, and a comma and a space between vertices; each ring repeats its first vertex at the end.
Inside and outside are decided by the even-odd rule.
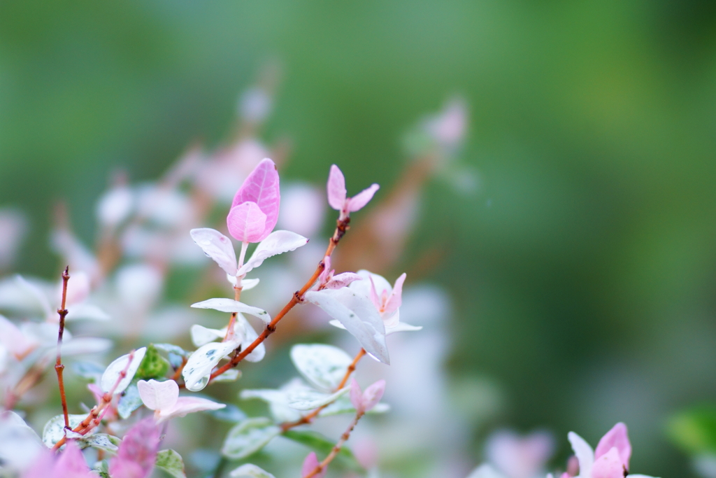
POLYGON ((368 297, 349 287, 309 291, 305 297, 307 301, 318 305, 328 315, 341 322, 369 354, 382 363, 390 364, 388 348, 385 345, 385 326, 368 297))

